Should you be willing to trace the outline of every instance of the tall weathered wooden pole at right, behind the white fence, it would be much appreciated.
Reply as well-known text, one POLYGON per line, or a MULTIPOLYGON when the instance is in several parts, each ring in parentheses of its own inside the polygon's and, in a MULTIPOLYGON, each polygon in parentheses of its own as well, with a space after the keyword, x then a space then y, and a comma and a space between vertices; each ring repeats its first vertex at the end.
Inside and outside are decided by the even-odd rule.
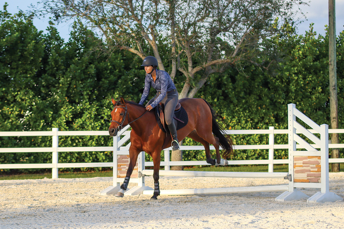
MULTIPOLYGON (((329 0, 329 78, 330 78, 330 117, 331 128, 338 128, 337 101, 337 63, 336 63, 336 18, 335 0, 329 0)), ((331 134, 331 143, 339 143, 339 135, 331 134)), ((332 158, 339 158, 339 149, 332 149, 332 158)), ((339 163, 332 163, 332 172, 339 172, 339 163)))

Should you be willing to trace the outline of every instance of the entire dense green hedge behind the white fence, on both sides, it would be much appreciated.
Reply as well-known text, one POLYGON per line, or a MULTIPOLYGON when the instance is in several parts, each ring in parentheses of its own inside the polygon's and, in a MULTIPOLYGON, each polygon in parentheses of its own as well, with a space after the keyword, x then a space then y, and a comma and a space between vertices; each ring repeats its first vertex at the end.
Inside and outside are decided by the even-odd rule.
MULTIPOLYGON (((71 38, 64 41, 53 26, 47 34, 37 31, 30 17, 0 12, 0 130, 107 130, 111 96, 138 102, 143 90, 142 61, 126 51, 99 55, 105 45, 81 23, 75 23, 71 38)), ((343 110, 343 42, 337 38, 338 109, 343 110)), ((166 42, 166 41, 165 41, 166 42)), ((223 118, 225 129, 287 128, 287 104, 316 123, 329 123, 328 37, 290 34, 265 44, 271 55, 259 63, 243 62, 214 73, 196 97, 206 99, 223 118)), ((163 43, 163 45, 168 45, 163 43)), ((163 47, 161 48, 163 51, 163 47)), ((148 51, 147 51, 148 53, 148 51)), ((166 54, 167 55, 167 54, 166 54)), ((165 63, 169 69, 169 63, 165 63)), ((202 72, 200 72, 200 75, 202 72)), ((183 78, 175 78, 177 88, 183 78)), ((200 77, 200 76, 198 76, 200 77)), ((151 96, 154 90, 151 90, 151 96)), ((343 113, 339 126, 343 128, 343 113)), ((268 136, 232 136, 237 145, 268 144, 268 136)), ((342 135, 340 135, 342 141, 342 135)), ((275 138, 286 144, 287 136, 275 138)), ((50 147, 51 137, 2 137, 1 147, 50 147)), ((110 146, 107 136, 60 137, 59 145, 110 146)), ((194 145, 191 139, 185 145, 194 145)), ((199 144, 197 144, 199 145, 199 144)), ((267 159, 267 150, 237 151, 233 159, 267 159)), ((185 151, 184 160, 205 160, 205 153, 185 151)), ((343 157, 343 151, 340 152, 343 157)), ((286 158, 276 150, 275 158, 286 158)), ((51 152, 2 153, 0 163, 50 163, 51 152)), ((112 152, 60 152, 59 162, 107 162, 112 152)), ((98 168, 99 169, 99 168, 98 168)), ((66 169, 67 170, 67 169, 66 169)), ((69 170, 69 169, 68 169, 69 170)), ((28 171, 28 170, 24 170, 28 171)), ((39 171, 39 170, 30 170, 39 171)), ((7 171, 3 171, 7 172, 7 171)))

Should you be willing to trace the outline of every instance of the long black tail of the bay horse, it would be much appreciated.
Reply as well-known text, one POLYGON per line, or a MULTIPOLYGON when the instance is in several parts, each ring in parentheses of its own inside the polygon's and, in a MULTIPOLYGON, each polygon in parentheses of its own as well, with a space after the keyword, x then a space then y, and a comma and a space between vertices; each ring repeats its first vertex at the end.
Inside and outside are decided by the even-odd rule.
POLYGON ((224 135, 222 133, 222 128, 219 126, 218 124, 218 115, 215 113, 215 111, 213 110, 213 108, 211 107, 211 105, 205 100, 203 99, 206 104, 209 106, 210 111, 212 113, 212 118, 213 118, 213 134, 215 135, 215 137, 217 137, 219 139, 219 144, 222 147, 222 157, 224 159, 228 158, 230 155, 233 155, 234 151, 233 151, 233 141, 230 138, 229 135, 224 135))

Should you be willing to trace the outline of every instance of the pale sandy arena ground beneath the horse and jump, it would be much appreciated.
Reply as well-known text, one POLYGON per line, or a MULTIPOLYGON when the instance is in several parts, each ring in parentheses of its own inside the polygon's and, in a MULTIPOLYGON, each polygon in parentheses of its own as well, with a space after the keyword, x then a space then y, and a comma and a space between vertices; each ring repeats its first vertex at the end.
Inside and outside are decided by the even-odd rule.
MULTIPOLYGON (((161 189, 283 184, 276 179, 160 177, 161 189)), ((153 187, 151 177, 146 184, 153 187)), ((276 202, 282 192, 197 196, 100 196, 112 178, 0 181, 0 228, 343 228, 344 202, 276 202)), ((131 187, 135 184, 130 184, 131 187)), ((129 185, 129 187, 130 187, 129 185)), ((301 190, 311 196, 316 189, 301 190)), ((344 172, 330 173, 344 197, 344 172)))

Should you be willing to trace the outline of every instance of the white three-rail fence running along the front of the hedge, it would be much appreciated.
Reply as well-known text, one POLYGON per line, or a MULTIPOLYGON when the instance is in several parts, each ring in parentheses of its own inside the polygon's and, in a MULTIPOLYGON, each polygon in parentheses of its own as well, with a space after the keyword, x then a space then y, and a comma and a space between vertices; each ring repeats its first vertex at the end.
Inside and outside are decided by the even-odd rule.
MULTIPOLYGON (((129 126, 128 126, 129 128, 129 126)), ((122 145, 130 139, 130 131, 128 128, 122 129, 118 136, 124 135, 119 140, 118 145, 122 145)), ((311 133, 316 133, 313 129, 309 130, 311 133)), ((344 129, 329 129, 329 133, 344 133, 344 129)), ((267 160, 232 160, 228 161, 230 165, 248 165, 248 164, 268 164, 269 172, 273 172, 274 164, 288 164, 288 159, 274 159, 275 149, 288 149, 288 144, 275 144, 275 136, 277 134, 288 134, 288 129, 275 129, 269 127, 269 129, 261 130, 225 130, 224 134, 230 135, 252 135, 262 134, 268 135, 268 145, 234 145, 236 150, 254 150, 254 149, 268 149, 269 156, 267 160)), ((298 132, 297 132, 298 134, 298 132)), ((38 168, 51 168, 52 178, 58 177, 59 168, 90 168, 90 167, 112 167, 115 160, 112 162, 89 162, 89 163, 58 163, 58 152, 85 152, 85 151, 117 151, 117 154, 126 155, 129 154, 129 146, 122 146, 116 148, 116 145, 112 146, 99 146, 99 147, 59 147, 59 136, 108 136, 108 131, 59 131, 58 128, 52 128, 52 131, 0 131, 0 137, 21 137, 21 136, 51 136, 52 147, 25 147, 25 148, 0 148, 0 153, 15 153, 15 152, 52 152, 52 163, 16 163, 16 164, 0 164, 0 169, 38 169, 38 168)), ((114 137, 115 138, 115 137, 114 137)), ((115 140, 114 140, 115 142, 115 140)), ((316 144, 311 144, 314 148, 320 148, 316 144)), ((203 146, 181 146, 181 150, 204 150, 203 146)), ((297 148, 302 148, 297 145, 297 148)), ((344 144, 329 144, 329 148, 344 148, 344 144)), ((211 150, 215 148, 210 147, 211 150)), ((161 161, 160 165, 165 167, 165 170, 169 170, 170 166, 174 165, 208 165, 206 161, 170 161, 170 150, 167 148, 164 150, 165 160, 161 161)), ((344 158, 329 159, 329 163, 344 163, 344 158)), ((153 166, 153 162, 145 162, 146 166, 153 166)))

